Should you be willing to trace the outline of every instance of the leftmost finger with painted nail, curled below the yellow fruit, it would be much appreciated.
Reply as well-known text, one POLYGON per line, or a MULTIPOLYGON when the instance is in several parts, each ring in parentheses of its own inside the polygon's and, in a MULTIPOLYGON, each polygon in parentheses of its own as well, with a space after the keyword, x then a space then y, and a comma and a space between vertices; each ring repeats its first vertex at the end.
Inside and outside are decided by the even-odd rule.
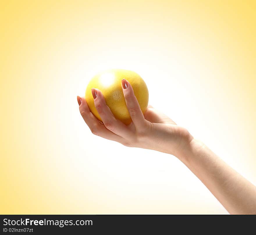
POLYGON ((83 120, 86 122, 94 135, 101 136, 102 138, 108 140, 114 140, 122 144, 125 142, 124 138, 114 134, 113 132, 108 130, 104 126, 104 124, 99 122, 99 120, 93 115, 93 113, 90 112, 86 99, 78 96, 77 102, 79 104, 79 111, 81 113, 81 116, 83 117, 83 120))

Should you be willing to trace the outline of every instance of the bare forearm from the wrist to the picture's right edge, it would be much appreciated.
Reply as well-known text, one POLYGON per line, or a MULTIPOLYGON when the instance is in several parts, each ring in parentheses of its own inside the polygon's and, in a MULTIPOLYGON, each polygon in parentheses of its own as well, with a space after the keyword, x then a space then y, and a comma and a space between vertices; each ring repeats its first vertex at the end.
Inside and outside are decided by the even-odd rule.
POLYGON ((177 156, 231 214, 256 214, 256 187, 193 139, 177 156))

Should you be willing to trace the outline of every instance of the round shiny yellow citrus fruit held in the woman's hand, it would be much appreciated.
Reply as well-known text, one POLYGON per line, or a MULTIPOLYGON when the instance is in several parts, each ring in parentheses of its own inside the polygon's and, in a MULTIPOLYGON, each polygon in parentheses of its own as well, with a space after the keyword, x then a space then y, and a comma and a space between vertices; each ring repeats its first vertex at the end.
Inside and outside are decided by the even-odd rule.
POLYGON ((134 90, 138 103, 140 104, 141 111, 144 113, 148 104, 148 90, 147 85, 140 75, 130 70, 113 69, 101 72, 94 76, 89 82, 85 98, 90 111, 95 117, 102 121, 97 109, 94 106, 92 88, 99 89, 105 100, 107 106, 111 109, 113 115, 121 120, 126 125, 131 123, 131 117, 126 107, 125 97, 122 91, 122 79, 126 79, 134 90))

